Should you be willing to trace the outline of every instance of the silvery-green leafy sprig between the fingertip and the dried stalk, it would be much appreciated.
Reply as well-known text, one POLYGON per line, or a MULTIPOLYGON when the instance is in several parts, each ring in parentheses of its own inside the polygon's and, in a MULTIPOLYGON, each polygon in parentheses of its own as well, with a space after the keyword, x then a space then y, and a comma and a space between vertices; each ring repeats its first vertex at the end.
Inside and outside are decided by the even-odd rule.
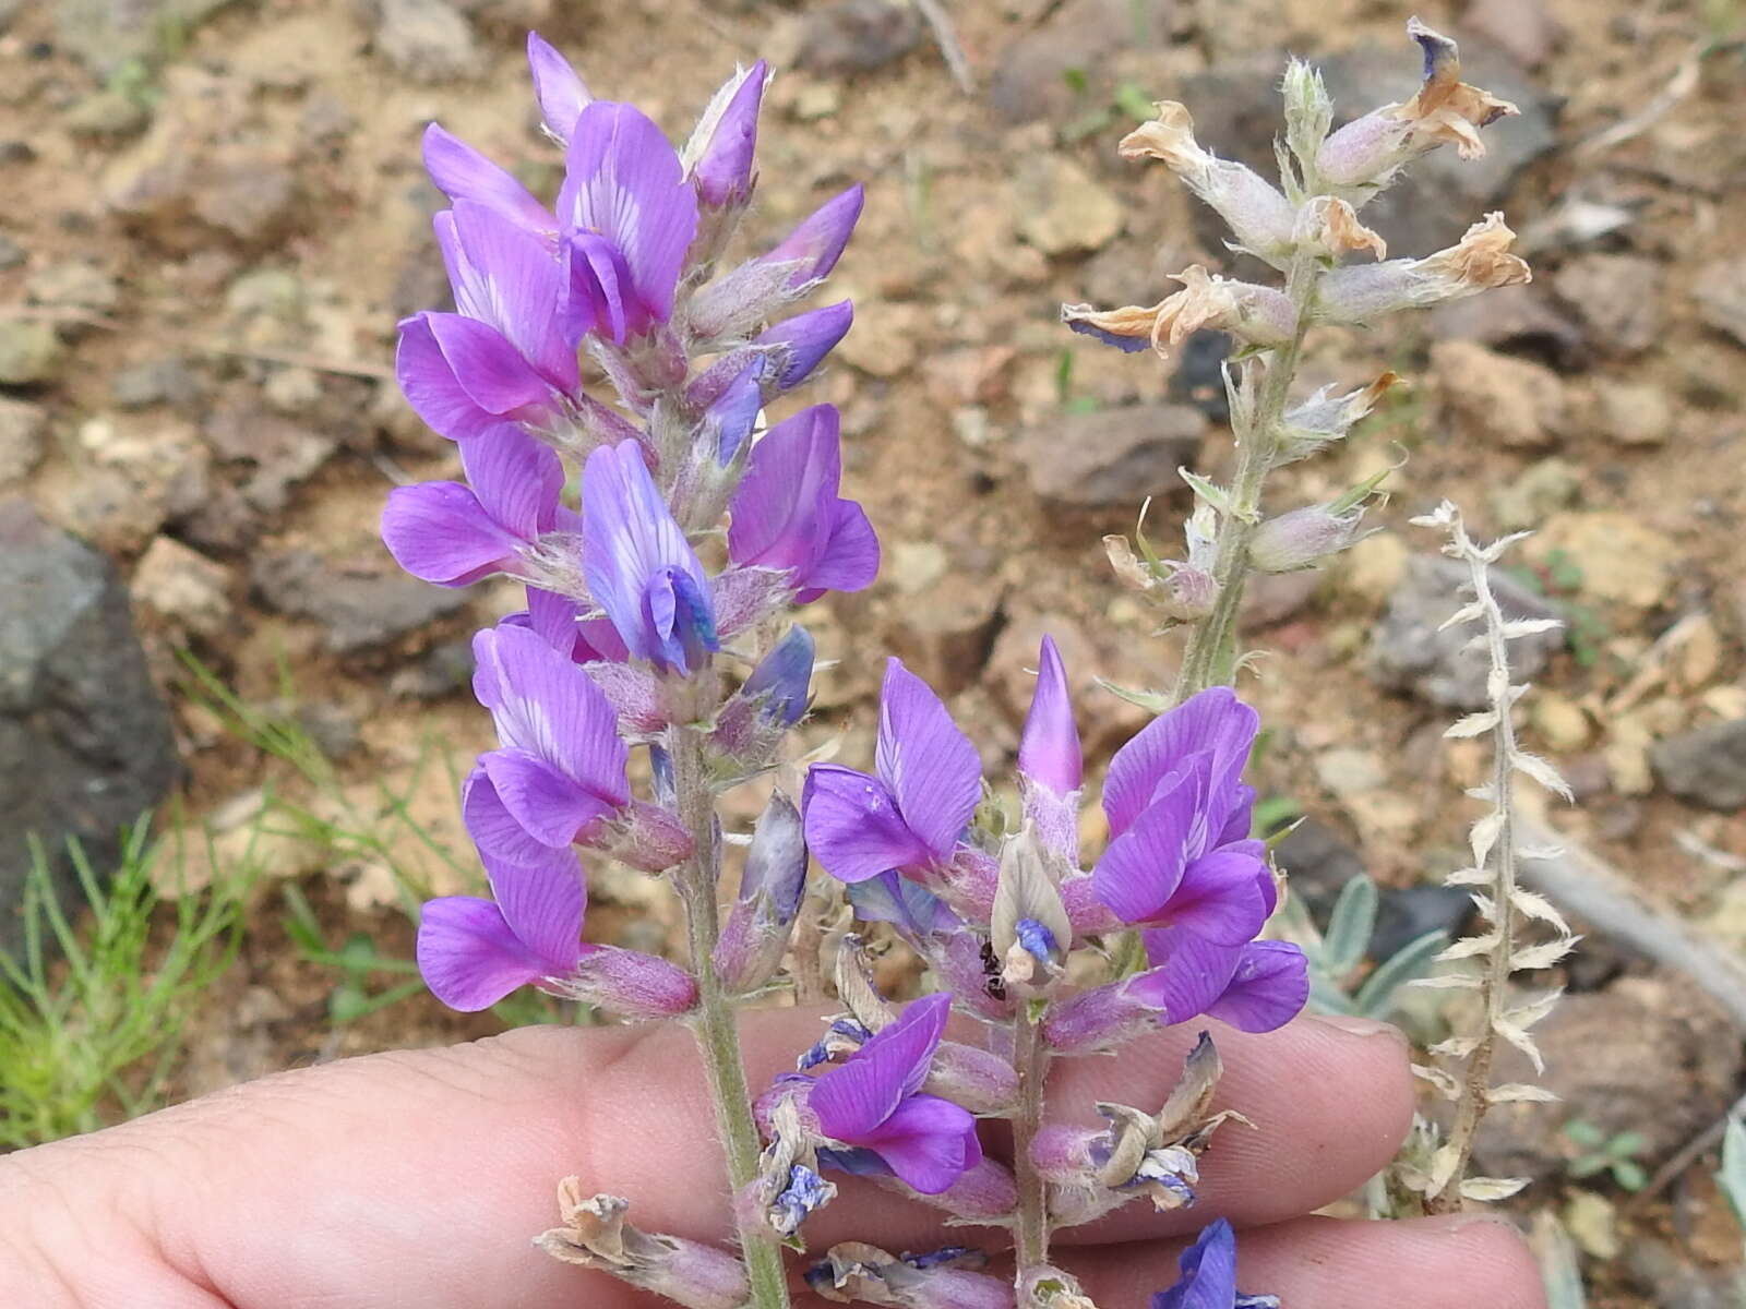
POLYGON ((1318 932, 1303 901, 1287 897, 1282 916, 1287 935, 1310 960, 1313 1011, 1386 1019, 1399 1007, 1400 988, 1430 972, 1437 953, 1449 941, 1447 932, 1425 932, 1369 974, 1362 972, 1379 906, 1376 883, 1360 873, 1341 887, 1327 920, 1327 932, 1318 932))

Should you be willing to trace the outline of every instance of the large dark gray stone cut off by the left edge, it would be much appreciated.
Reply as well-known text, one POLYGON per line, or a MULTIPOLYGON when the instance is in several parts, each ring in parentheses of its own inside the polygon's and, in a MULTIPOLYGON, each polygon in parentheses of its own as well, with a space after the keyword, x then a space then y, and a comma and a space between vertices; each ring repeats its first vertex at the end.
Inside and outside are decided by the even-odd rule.
POLYGON ((101 873, 120 829, 162 801, 176 773, 169 710, 115 569, 23 497, 0 501, 0 948, 19 942, 26 834, 70 894, 66 838, 101 873))

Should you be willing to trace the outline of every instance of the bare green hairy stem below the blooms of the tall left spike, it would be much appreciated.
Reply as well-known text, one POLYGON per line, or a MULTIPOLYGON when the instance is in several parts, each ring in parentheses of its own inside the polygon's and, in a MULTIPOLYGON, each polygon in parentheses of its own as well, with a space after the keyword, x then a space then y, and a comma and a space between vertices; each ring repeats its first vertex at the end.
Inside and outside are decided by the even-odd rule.
MULTIPOLYGON (((697 974, 697 1014, 691 1031, 697 1035, 704 1072, 709 1077, 716 1133, 728 1161, 728 1187, 737 1196, 758 1175, 760 1147, 746 1086, 746 1061, 740 1056, 740 1033, 733 1021, 733 1002, 716 976, 716 939, 721 935, 721 909, 716 902, 716 801, 704 771, 702 730, 676 726, 670 737, 679 817, 697 841, 695 853, 676 874, 691 942, 691 969, 697 974)), ((782 1251, 763 1239, 756 1227, 740 1223, 740 1255, 746 1260, 751 1288, 749 1309, 787 1309, 782 1251)))

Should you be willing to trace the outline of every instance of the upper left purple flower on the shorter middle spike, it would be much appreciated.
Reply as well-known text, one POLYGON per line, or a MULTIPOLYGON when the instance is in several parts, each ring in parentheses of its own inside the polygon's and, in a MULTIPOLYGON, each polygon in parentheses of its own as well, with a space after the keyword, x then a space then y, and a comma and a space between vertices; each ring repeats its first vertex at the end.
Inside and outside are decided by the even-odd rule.
POLYGON ((840 881, 946 862, 981 798, 976 747, 899 660, 885 665, 875 768, 807 773, 807 845, 840 881))

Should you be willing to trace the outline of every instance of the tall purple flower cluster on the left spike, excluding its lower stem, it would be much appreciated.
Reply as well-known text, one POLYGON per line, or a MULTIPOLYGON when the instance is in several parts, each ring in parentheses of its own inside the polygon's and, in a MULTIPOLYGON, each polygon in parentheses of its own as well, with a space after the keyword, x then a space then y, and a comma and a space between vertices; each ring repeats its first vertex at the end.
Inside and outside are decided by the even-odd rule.
MULTIPOLYGON (((581 944, 578 855, 650 873, 714 860, 663 785, 669 731, 712 723, 718 778, 768 766, 805 712, 812 639, 791 628, 730 695, 721 653, 758 648, 789 606, 878 571, 866 515, 838 496, 836 410, 763 429, 763 407, 849 328, 847 302, 793 307, 842 255, 861 188, 719 272, 756 183, 765 65, 730 79, 677 150, 637 108, 594 99, 538 35, 527 58, 564 148, 555 202, 433 124, 424 162, 450 202, 435 230, 454 311, 400 325, 402 389, 456 442, 464 482, 393 490, 382 538, 442 586, 527 585, 527 607, 473 641, 473 691, 499 745, 466 777, 463 817, 494 899, 428 904, 419 963, 457 1009, 531 983, 629 1016, 677 1014, 697 998, 690 974, 581 944), (723 515, 711 567, 698 543, 721 536, 723 515), (650 796, 632 785, 639 749, 650 796)), ((805 876, 798 813, 766 819, 718 948, 735 990, 779 965, 805 876)))

